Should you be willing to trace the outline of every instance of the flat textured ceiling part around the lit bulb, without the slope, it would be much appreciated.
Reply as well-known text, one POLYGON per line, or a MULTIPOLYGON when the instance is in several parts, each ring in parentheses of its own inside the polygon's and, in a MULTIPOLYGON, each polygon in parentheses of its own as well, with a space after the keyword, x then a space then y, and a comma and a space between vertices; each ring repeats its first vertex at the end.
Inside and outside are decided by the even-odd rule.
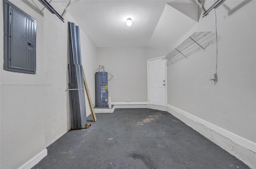
POLYGON ((68 12, 97 47, 146 46, 167 1, 83 0, 68 12), (132 26, 126 26, 132 18, 132 26))

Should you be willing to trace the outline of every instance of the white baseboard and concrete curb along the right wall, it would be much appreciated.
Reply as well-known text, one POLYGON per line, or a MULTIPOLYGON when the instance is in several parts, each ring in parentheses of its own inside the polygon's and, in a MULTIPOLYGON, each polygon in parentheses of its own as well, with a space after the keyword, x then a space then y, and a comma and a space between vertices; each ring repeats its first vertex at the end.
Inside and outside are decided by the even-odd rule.
POLYGON ((243 161, 249 167, 256 169, 256 143, 206 122, 174 106, 168 104, 167 107, 170 114, 243 161))

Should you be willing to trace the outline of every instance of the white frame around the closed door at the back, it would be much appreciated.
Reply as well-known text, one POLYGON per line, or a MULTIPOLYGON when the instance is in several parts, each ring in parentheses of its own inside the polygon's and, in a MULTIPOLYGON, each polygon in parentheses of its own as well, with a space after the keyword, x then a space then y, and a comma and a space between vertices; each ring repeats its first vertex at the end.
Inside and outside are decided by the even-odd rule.
MULTIPOLYGON (((153 60, 157 60, 157 59, 163 59, 165 56, 161 56, 161 57, 156 57, 156 58, 154 58, 154 59, 148 59, 147 60, 147 81, 148 81, 148 104, 150 104, 149 103, 149 61, 153 61, 153 60)), ((165 106, 167 106, 167 103, 168 103, 168 79, 167 79, 167 61, 166 61, 166 59, 164 59, 164 65, 165 65, 165 79, 166 79, 166 83, 165 83, 165 86, 166 86, 166 88, 165 88, 165 97, 166 97, 166 103, 165 103, 165 106)))

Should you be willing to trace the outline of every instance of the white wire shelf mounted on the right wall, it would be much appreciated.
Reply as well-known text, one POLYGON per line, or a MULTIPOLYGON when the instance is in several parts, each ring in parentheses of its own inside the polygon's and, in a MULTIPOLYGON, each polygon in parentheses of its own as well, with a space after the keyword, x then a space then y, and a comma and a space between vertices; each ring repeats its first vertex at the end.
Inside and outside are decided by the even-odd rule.
MULTIPOLYGON (((214 33, 212 33, 211 31, 195 32, 190 37, 188 37, 186 40, 184 40, 180 45, 178 45, 178 47, 176 47, 174 50, 172 50, 170 53, 168 53, 168 55, 166 55, 166 57, 164 57, 163 59, 167 59, 168 61, 170 61, 172 63, 171 59, 174 58, 178 54, 181 54, 184 57, 186 57, 182 53, 182 51, 184 51, 185 49, 187 49, 188 47, 190 47, 193 44, 197 44, 200 47, 202 47, 199 43, 201 41, 204 41, 205 39, 207 39, 208 37, 210 37, 213 34, 214 33)), ((205 48, 202 47, 202 49, 205 49, 205 48)))

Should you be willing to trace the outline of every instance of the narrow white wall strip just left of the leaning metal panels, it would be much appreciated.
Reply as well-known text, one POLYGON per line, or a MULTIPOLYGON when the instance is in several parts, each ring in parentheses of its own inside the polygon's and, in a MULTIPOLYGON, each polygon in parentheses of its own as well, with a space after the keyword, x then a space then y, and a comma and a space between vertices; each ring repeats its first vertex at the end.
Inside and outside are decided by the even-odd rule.
MULTIPOLYGON (((57 7, 55 4, 56 10, 57 7)), ((43 66, 46 70, 43 78, 52 84, 44 90, 46 146, 70 129, 70 116, 67 116, 70 114, 69 96, 65 92, 68 87, 68 38, 67 20, 63 23, 48 10, 44 10, 43 66)))

